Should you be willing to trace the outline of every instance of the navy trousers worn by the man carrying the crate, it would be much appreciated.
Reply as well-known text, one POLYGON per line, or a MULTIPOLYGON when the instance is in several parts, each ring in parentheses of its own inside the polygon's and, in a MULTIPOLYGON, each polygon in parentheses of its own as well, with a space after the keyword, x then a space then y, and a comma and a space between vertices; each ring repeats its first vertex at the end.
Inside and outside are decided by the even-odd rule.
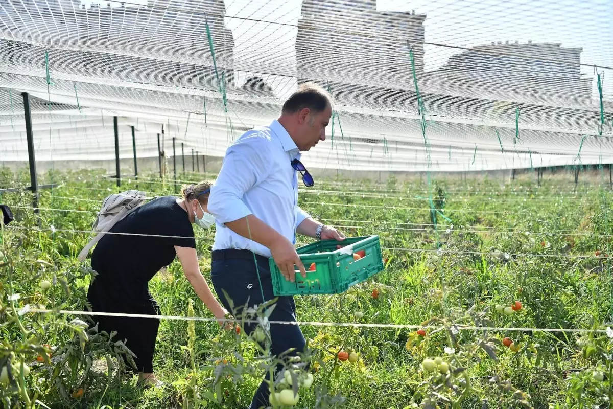
MULTIPOLYGON (((251 251, 213 251, 211 280, 219 300, 236 319, 240 317, 245 305, 253 307, 255 304, 262 304, 265 300, 275 298, 272 292, 272 278, 270 276, 270 267, 268 267, 268 259, 259 255, 256 255, 256 259, 254 259, 251 251), (260 291, 260 284, 257 279, 256 260, 260 280, 262 281, 264 300, 262 300, 262 291, 260 291), (222 290, 226 291, 230 299, 232 299, 236 311, 230 308, 229 302, 222 290)), ((279 296, 275 308, 268 319, 270 321, 295 321, 295 310, 294 297, 279 296)), ((245 324, 246 334, 250 335, 254 328, 254 324, 245 324)), ((300 331, 300 327, 297 325, 270 324, 270 338, 272 340, 270 353, 277 356, 290 348, 295 348, 295 351, 290 353, 290 355, 295 355, 297 351, 302 352, 307 344, 302 331, 300 331)), ((277 368, 275 373, 278 373, 279 370, 280 368, 277 368)), ((268 380, 269 378, 270 373, 267 371, 265 379, 268 380)), ((251 401, 249 409, 268 407, 270 405, 268 400, 269 394, 268 384, 262 381, 251 401)))

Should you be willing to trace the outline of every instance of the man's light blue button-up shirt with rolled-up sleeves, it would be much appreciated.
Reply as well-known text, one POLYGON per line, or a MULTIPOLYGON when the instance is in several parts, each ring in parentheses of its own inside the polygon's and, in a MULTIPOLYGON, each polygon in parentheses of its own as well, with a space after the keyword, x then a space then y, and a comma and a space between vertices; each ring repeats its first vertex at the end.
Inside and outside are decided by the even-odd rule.
POLYGON ((292 159, 300 159, 300 150, 277 120, 245 132, 227 148, 208 198, 216 226, 213 250, 235 248, 270 257, 267 247, 224 226, 251 214, 295 244, 296 228, 310 216, 298 205, 292 159))

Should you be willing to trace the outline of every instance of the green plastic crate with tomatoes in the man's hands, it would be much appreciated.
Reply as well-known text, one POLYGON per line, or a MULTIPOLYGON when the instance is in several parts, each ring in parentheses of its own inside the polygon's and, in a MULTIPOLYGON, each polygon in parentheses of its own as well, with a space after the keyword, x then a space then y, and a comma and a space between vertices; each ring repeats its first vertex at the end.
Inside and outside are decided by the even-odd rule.
POLYGON ((352 285, 383 271, 383 255, 378 235, 348 237, 343 242, 321 240, 296 249, 305 269, 315 263, 315 271, 307 271, 307 278, 296 273, 294 283, 287 281, 272 258, 268 259, 275 296, 296 294, 339 294, 352 285), (343 248, 337 250, 337 245, 343 248), (353 253, 364 250, 359 260, 353 253))

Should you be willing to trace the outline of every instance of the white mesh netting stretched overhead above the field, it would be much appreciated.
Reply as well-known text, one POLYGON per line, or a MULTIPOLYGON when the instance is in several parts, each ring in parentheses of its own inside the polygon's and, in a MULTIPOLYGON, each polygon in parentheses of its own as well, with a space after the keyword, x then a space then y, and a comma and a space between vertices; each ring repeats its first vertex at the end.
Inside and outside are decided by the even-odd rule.
POLYGON ((132 126, 139 157, 158 156, 162 125, 166 150, 174 137, 188 152, 223 156, 242 132, 278 117, 297 85, 313 81, 332 94, 335 115, 306 166, 455 171, 611 162, 610 1, 408 7, 0 2, 0 161, 28 159, 23 92, 40 159, 115 158, 114 116, 121 158, 133 155, 132 126))

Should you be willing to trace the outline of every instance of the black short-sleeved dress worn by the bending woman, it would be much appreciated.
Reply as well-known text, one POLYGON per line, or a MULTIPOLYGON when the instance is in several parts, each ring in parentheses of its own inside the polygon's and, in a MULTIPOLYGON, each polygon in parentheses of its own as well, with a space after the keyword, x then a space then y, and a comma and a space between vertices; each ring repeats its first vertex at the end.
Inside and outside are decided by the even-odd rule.
MULTIPOLYGON (((194 229, 177 197, 165 196, 143 204, 120 220, 96 244, 91 267, 98 273, 87 299, 95 312, 160 315, 148 282, 177 256, 174 246, 196 248, 194 229), (149 235, 149 236, 147 236, 149 235), (175 237, 160 237, 175 236, 175 237)), ((159 319, 92 316, 98 331, 117 331, 136 355, 138 372, 153 372, 153 351, 159 319)), ((126 364, 130 368, 131 365, 126 364)))

